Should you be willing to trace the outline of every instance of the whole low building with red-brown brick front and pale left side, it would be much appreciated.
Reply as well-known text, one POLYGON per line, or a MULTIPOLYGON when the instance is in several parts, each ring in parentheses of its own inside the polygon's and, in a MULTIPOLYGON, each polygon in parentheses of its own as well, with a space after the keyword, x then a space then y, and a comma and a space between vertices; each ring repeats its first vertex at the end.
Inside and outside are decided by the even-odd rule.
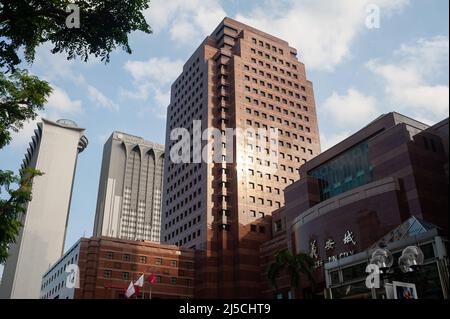
POLYGON ((146 284, 133 298, 190 299, 194 263, 192 249, 109 237, 81 238, 44 274, 41 298, 121 299, 130 282, 144 274, 146 284), (78 284, 73 280, 74 269, 78 284), (155 283, 151 285, 152 274, 155 283))

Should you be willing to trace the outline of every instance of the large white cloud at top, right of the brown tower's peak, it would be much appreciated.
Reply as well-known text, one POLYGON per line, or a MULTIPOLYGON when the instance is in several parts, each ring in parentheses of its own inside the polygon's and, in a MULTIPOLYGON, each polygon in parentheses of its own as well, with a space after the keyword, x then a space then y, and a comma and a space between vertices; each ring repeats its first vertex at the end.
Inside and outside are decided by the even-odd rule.
POLYGON ((366 29, 369 4, 378 5, 382 17, 386 17, 408 3, 408 0, 266 0, 252 12, 238 14, 237 20, 287 40, 299 50, 308 68, 333 71, 350 57, 353 41, 366 29))

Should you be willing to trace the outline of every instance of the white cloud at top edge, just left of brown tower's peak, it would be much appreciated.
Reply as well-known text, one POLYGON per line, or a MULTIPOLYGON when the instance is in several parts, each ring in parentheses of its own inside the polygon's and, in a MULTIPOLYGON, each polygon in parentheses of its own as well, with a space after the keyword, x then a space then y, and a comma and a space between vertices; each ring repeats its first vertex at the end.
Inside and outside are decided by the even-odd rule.
POLYGON ((145 12, 155 33, 167 28, 180 44, 203 40, 225 16, 218 0, 153 0, 145 12))

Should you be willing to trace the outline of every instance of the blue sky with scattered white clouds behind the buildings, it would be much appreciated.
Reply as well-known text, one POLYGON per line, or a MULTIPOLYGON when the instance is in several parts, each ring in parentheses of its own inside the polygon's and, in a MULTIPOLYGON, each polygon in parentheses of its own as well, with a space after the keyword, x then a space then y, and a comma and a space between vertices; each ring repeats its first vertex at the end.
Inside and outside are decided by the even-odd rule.
MULTIPOLYGON (((118 50, 109 64, 84 63, 41 46, 28 67, 54 92, 39 115, 72 119, 89 139, 78 160, 66 249, 92 235, 107 138, 122 131, 164 144, 170 84, 225 16, 298 49, 314 84, 325 150, 387 112, 427 124, 448 117, 448 6, 447 0, 152 0, 145 16, 153 34, 133 33, 131 55, 118 50), (380 23, 369 28, 373 4, 380 23)), ((18 170, 35 126, 27 123, 0 151, 0 169, 18 170)))

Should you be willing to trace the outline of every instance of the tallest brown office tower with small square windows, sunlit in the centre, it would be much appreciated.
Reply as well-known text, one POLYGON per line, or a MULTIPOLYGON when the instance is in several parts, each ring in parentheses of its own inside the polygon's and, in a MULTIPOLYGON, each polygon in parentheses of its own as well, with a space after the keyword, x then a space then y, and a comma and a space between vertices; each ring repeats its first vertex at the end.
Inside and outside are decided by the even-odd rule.
POLYGON ((299 179, 300 165, 320 152, 313 86, 297 51, 225 18, 172 85, 166 146, 161 238, 200 250, 196 296, 259 297, 268 216, 284 205, 283 189, 299 179), (205 133, 200 142, 196 120, 219 136, 205 133), (171 139, 176 128, 189 132, 187 151, 171 139), (245 138, 227 133, 249 128, 256 131, 245 138), (212 142, 210 157, 233 160, 200 161, 196 150, 212 142), (179 153, 190 161, 178 163, 179 153))

